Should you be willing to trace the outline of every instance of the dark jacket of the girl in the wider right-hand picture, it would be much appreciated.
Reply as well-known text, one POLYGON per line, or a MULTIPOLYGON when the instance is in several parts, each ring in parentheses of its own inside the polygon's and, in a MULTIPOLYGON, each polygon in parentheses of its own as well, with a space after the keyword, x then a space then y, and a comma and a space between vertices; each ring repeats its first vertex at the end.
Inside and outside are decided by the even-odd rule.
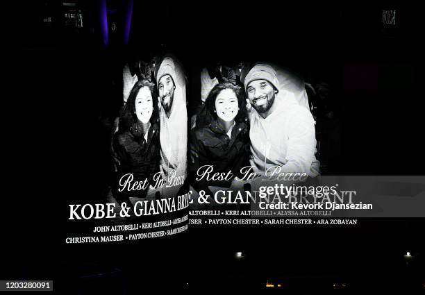
POLYGON ((237 122, 233 126, 231 138, 216 120, 204 127, 192 130, 190 138, 190 180, 194 189, 208 192, 208 185, 230 187, 232 180, 242 177, 240 169, 249 166, 249 125, 237 122), (230 180, 197 180, 197 171, 204 165, 213 165, 214 173, 232 172, 230 180))

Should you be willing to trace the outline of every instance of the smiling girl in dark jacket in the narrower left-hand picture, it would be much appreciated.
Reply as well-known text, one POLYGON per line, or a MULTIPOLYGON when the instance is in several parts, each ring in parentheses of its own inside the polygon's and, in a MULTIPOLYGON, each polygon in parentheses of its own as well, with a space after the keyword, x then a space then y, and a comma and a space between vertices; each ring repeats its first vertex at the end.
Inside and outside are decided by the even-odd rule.
POLYGON ((115 196, 147 196, 148 186, 140 190, 119 187, 120 179, 133 174, 134 182, 153 185, 153 176, 159 171, 160 141, 158 101, 153 83, 138 81, 128 96, 126 107, 119 117, 119 129, 113 137, 113 147, 119 158, 115 196))

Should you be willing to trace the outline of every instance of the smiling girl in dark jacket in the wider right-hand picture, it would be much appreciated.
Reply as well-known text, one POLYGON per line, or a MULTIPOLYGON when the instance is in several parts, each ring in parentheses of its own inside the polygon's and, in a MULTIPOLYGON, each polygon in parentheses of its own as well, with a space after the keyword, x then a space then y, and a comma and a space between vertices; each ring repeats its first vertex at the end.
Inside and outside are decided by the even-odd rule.
POLYGON ((243 90, 219 83, 208 94, 197 127, 190 138, 192 186, 198 192, 208 185, 231 187, 240 169, 249 166, 249 124, 243 90), (231 175, 225 180, 197 180, 198 169, 212 165, 213 173, 231 175), (229 174, 229 171, 231 172, 229 174))

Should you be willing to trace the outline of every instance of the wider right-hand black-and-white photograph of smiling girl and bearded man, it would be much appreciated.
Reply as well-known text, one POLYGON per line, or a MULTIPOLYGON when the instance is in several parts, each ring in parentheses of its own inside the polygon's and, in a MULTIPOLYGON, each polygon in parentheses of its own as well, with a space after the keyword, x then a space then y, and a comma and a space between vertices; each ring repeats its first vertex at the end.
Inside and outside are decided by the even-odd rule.
MULTIPOLYGON (((335 126, 331 136, 338 139, 340 135, 329 106, 326 114, 317 112, 323 107, 316 103, 315 87, 321 89, 288 69, 263 62, 233 63, 233 67, 217 62, 204 68, 201 101, 191 119, 190 170, 195 191, 203 187, 211 192, 210 186, 255 189, 260 177, 269 174, 299 173, 310 182, 319 181, 317 136, 322 130, 316 133, 316 122, 328 119, 335 126), (223 69, 228 78, 219 82, 223 69), (217 180, 211 180, 215 174, 217 180)), ((339 149, 338 140, 334 142, 333 151, 339 149)), ((333 153, 334 162, 336 157, 338 152, 333 153)), ((323 167, 330 173, 326 160, 323 167)))

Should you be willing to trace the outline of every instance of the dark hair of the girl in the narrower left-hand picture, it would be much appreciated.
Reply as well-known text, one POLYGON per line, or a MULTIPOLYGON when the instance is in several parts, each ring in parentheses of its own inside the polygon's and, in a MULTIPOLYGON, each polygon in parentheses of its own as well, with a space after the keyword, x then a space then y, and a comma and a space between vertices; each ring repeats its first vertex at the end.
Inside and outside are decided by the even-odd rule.
POLYGON ((130 92, 130 95, 128 96, 126 106, 124 108, 124 112, 122 112, 121 117, 119 117, 119 130, 128 130, 130 129, 133 124, 136 124, 138 121, 138 117, 135 114, 135 99, 136 96, 138 96, 138 93, 142 87, 149 87, 149 90, 151 90, 152 95, 152 105, 153 105, 153 112, 151 119, 149 120, 151 124, 154 124, 156 121, 158 121, 159 118, 159 110, 158 110, 158 94, 156 93, 156 86, 155 84, 147 81, 142 80, 135 83, 133 86, 133 89, 130 92))

